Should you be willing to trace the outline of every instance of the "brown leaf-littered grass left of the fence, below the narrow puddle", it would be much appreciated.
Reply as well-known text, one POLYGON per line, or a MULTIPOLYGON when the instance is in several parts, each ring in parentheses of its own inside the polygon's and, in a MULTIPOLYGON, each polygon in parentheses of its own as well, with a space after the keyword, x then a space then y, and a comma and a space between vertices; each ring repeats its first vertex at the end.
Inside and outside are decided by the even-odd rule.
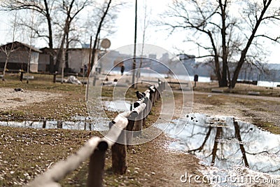
POLYGON ((1 186, 22 186, 98 132, 0 127, 1 186))

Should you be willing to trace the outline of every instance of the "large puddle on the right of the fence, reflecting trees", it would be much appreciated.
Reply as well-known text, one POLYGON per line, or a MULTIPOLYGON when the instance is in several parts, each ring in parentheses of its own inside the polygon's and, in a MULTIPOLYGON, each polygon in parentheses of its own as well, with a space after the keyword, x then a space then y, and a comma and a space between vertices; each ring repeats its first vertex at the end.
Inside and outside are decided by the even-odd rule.
MULTIPOLYGON (((158 127, 178 139, 169 145, 170 148, 192 153, 211 168, 202 172, 204 174, 225 176, 232 171, 246 172, 251 176, 276 179, 280 185, 280 135, 232 117, 211 118, 197 113, 180 119, 180 122, 158 124, 158 127), (183 130, 174 133, 178 127, 183 130)), ((244 182, 237 185, 224 180, 219 185, 244 186, 244 182)), ((249 186, 248 183, 245 186, 249 186)))

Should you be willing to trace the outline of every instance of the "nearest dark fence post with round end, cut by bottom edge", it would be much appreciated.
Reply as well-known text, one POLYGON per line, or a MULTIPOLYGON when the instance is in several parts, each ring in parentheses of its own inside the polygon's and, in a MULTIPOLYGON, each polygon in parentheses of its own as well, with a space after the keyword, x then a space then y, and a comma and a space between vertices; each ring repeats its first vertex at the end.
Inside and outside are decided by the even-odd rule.
POLYGON ((90 156, 90 168, 87 176, 88 187, 102 186, 105 165, 105 153, 107 148, 107 142, 100 141, 97 146, 97 149, 95 149, 92 155, 90 156))

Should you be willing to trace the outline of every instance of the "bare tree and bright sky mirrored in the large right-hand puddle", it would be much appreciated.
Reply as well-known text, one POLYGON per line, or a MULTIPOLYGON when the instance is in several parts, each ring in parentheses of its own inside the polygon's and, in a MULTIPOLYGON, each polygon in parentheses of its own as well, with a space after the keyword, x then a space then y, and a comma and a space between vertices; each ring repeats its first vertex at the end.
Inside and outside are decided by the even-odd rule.
MULTIPOLYGON (((190 125, 180 134, 172 135, 183 141, 184 151, 204 158, 221 169, 242 165, 258 172, 280 174, 279 135, 232 118, 225 118, 222 123, 221 119, 203 115, 196 118, 202 119, 199 123, 190 120, 190 125)), ((171 130, 172 127, 167 127, 165 132, 171 134, 171 130)))

